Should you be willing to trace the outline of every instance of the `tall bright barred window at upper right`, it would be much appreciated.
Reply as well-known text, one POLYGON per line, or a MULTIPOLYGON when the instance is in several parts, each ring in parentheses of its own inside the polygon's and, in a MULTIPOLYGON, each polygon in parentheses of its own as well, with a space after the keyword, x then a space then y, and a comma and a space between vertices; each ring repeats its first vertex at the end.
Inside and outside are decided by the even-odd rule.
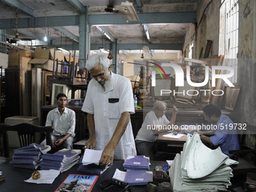
POLYGON ((220 38, 219 55, 225 55, 228 66, 234 69, 234 75, 230 78, 232 83, 237 82, 237 53, 239 32, 239 1, 222 0, 220 7, 220 38))

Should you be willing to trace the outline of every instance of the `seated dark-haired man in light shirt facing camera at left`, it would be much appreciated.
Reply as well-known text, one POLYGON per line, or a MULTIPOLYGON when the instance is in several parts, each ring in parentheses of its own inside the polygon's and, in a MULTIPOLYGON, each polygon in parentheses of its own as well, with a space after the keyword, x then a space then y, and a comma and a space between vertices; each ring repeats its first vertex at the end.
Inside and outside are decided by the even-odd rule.
MULTIPOLYGON (((75 136, 75 111, 66 108, 68 101, 64 93, 59 93, 56 100, 58 107, 49 111, 45 126, 53 126, 51 136, 53 148, 62 145, 63 148, 72 149, 75 136)), ((41 144, 46 145, 46 140, 44 139, 41 144)))

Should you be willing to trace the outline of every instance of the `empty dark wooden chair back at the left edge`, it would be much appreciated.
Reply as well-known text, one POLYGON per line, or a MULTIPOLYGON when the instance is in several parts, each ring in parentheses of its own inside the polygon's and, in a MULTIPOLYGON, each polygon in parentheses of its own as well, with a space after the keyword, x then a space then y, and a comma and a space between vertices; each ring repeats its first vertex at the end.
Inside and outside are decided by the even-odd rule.
POLYGON ((8 131, 17 131, 20 140, 20 147, 35 143, 35 133, 45 133, 46 143, 51 146, 52 126, 37 126, 30 123, 6 125, 2 123, 0 125, 0 130, 2 130, 3 136, 4 157, 10 157, 8 131))

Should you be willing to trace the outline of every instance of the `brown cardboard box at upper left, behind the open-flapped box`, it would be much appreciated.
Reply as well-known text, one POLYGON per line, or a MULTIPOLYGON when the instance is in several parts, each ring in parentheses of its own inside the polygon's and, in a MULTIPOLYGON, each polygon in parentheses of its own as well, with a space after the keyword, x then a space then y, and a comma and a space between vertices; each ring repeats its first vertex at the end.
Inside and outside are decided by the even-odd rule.
POLYGON ((19 67, 20 55, 31 57, 32 53, 29 50, 9 50, 8 51, 8 67, 19 67))

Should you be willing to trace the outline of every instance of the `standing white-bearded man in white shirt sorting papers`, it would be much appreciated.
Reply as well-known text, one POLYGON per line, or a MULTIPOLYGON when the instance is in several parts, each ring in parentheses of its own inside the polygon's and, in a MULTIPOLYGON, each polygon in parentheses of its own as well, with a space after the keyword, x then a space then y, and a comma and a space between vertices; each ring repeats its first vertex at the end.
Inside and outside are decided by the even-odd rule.
POLYGON ((104 53, 96 53, 85 66, 93 79, 88 84, 82 111, 87 112, 90 138, 86 148, 103 150, 101 165, 136 155, 130 114, 134 113, 130 80, 111 72, 104 53))

